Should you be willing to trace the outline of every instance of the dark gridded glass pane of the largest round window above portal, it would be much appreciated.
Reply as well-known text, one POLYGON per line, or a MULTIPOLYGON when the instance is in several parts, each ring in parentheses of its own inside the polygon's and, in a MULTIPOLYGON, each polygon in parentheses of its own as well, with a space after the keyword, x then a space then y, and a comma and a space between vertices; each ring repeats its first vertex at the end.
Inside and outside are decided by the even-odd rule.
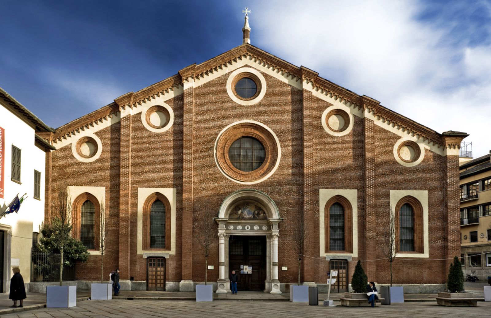
POLYGON ((263 164, 266 151, 257 139, 241 137, 228 149, 228 158, 240 171, 254 171, 263 164))

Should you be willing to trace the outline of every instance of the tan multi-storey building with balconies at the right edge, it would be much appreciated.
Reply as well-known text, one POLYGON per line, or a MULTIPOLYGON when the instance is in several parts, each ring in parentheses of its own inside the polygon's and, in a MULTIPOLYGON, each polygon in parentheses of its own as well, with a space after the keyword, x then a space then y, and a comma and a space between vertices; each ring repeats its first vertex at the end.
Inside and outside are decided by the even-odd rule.
POLYGON ((461 260, 464 274, 491 276, 491 151, 460 165, 461 260))

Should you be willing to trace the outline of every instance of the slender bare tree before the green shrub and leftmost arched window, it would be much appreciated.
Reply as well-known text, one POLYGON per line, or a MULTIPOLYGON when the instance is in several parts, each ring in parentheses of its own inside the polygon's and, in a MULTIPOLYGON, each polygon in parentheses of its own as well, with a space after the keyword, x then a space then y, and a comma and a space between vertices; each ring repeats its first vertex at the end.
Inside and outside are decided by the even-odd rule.
POLYGON ((53 218, 53 243, 60 251, 60 286, 63 283, 63 249, 72 230, 72 204, 71 197, 66 187, 58 193, 58 200, 55 202, 54 210, 52 211, 53 218))

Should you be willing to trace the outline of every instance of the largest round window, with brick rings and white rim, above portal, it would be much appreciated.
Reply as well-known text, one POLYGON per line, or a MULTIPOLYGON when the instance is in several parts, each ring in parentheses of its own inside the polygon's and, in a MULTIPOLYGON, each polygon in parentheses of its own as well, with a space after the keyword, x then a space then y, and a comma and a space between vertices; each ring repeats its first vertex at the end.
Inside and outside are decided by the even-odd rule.
POLYGON ((252 182, 273 171, 278 151, 268 129, 243 122, 229 127, 218 138, 217 163, 231 178, 252 182))

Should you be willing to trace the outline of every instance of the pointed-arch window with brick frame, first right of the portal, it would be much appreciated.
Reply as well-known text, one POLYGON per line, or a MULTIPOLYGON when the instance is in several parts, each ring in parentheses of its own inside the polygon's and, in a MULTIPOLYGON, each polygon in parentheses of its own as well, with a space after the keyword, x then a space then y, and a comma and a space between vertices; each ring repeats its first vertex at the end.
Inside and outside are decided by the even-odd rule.
POLYGON ((343 196, 333 196, 325 208, 326 252, 353 252, 353 209, 343 196))

